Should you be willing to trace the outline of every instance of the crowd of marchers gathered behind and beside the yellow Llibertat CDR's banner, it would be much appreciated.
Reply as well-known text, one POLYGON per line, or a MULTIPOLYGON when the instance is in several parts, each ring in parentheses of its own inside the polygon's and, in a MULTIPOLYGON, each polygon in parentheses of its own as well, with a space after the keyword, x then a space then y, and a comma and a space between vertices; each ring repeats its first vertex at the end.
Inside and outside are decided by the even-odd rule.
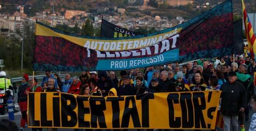
MULTIPOLYGON (((119 74, 120 80, 116 77, 115 71, 83 71, 81 76, 73 77, 66 73, 62 82, 58 74, 52 75, 51 71, 45 71, 41 84, 38 84, 36 78, 29 79, 28 75, 24 74, 18 91, 18 103, 22 113, 20 129, 24 130, 27 126, 29 92, 65 92, 78 96, 129 96, 156 92, 216 90, 222 91, 218 111, 223 115, 225 131, 237 131, 239 124, 241 131, 244 131, 244 119, 249 120, 249 110, 252 109, 255 66, 255 60, 249 56, 244 60, 243 55, 235 55, 234 58, 231 55, 190 61, 182 66, 169 64, 145 69, 136 68, 128 72, 122 70, 119 74)), ((57 128, 52 128, 52 131, 55 130, 57 128)))

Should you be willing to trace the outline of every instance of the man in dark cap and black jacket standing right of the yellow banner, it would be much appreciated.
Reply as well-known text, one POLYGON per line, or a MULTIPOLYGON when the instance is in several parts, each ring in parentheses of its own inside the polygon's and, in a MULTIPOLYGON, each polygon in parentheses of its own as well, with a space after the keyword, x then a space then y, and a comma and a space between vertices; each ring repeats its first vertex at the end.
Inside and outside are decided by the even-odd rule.
MULTIPOLYGON (((238 131, 238 115, 244 112, 246 104, 246 90, 236 81, 237 74, 234 71, 228 73, 228 82, 221 85, 216 91, 221 92, 221 114, 223 115, 224 130, 238 131)), ((241 126, 241 128, 244 128, 241 126)))

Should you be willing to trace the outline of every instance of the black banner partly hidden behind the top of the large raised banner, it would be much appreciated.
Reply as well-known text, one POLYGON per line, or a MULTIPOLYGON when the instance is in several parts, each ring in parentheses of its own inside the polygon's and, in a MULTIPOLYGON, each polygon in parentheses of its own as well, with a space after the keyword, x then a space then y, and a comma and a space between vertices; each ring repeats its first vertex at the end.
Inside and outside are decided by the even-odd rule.
POLYGON ((131 30, 124 29, 117 25, 114 25, 107 20, 102 18, 101 22, 101 30, 100 30, 100 37, 131 37, 135 35, 142 35, 137 32, 133 32, 131 30))

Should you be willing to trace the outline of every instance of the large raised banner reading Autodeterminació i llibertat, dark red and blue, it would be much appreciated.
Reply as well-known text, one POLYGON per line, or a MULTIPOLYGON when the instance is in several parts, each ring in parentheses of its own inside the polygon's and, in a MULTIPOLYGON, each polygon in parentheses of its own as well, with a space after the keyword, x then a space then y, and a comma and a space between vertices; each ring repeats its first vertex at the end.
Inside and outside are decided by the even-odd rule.
POLYGON ((170 29, 119 38, 88 37, 36 22, 34 71, 100 71, 234 54, 232 0, 170 29))

